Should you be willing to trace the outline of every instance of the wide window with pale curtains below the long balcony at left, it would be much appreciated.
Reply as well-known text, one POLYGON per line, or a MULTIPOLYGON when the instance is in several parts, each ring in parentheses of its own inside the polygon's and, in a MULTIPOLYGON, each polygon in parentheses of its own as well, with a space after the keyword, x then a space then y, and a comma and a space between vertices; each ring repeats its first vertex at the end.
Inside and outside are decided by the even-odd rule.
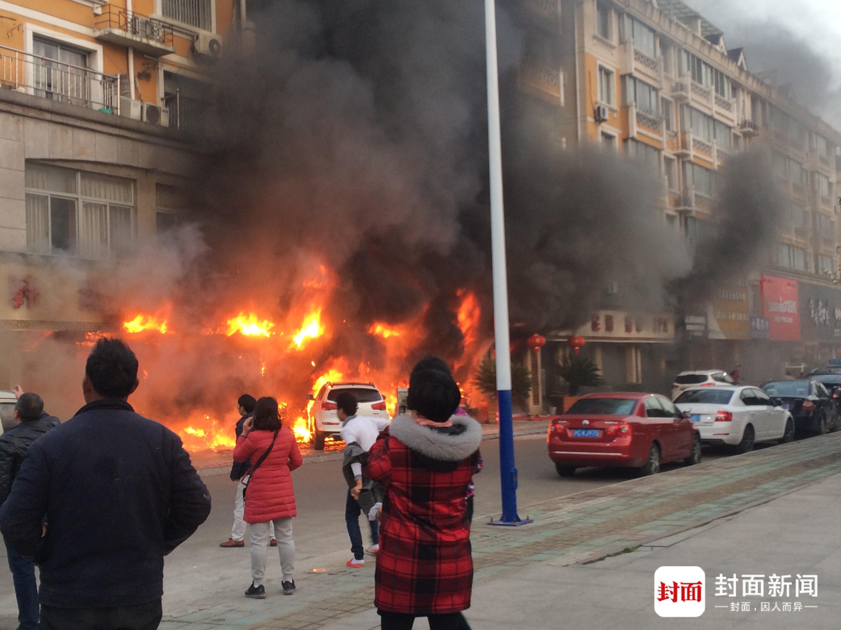
POLYGON ((134 181, 34 163, 25 179, 30 252, 98 259, 134 246, 134 181))

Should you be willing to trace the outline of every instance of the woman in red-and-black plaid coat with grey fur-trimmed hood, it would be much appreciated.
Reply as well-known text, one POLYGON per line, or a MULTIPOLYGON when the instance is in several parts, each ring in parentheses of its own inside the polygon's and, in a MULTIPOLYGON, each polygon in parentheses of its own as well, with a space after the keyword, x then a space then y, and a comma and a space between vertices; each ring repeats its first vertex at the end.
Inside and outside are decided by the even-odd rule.
POLYGON ((454 416, 461 392, 452 376, 411 378, 410 416, 394 418, 368 454, 365 475, 386 487, 375 574, 383 630, 469 628, 473 558, 465 495, 479 465, 482 428, 454 416))

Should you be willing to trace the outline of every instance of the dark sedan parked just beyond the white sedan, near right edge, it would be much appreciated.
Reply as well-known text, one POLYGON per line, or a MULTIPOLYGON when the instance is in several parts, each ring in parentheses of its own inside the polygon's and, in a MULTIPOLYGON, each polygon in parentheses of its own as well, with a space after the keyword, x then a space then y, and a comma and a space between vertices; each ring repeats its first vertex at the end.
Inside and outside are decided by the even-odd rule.
POLYGON ((820 381, 771 381, 762 389, 791 412, 797 431, 822 435, 838 430, 838 407, 820 381))

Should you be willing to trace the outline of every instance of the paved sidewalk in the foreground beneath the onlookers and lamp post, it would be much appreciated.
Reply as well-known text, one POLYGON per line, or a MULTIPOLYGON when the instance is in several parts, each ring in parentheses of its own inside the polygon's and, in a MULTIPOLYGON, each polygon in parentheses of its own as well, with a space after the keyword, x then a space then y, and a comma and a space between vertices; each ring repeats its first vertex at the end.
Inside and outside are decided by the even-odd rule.
MULTIPOLYGON (((801 615, 798 628, 833 627, 826 616, 839 611, 833 607, 838 601, 833 584, 841 584, 841 572, 834 569, 841 558, 836 535, 841 480, 828 478, 838 473, 841 433, 544 501, 521 509, 521 515, 535 519, 522 528, 491 528, 479 518, 473 526, 475 600, 468 618, 476 627, 489 628, 558 627, 559 620, 572 628, 674 627, 653 613, 653 571, 661 564, 696 564, 706 570, 707 611, 684 622, 690 627, 751 628, 759 622, 791 627, 785 614, 801 615), (823 483, 797 491, 818 481, 823 483), (763 503, 768 504, 721 521, 763 503), (715 527, 696 530, 694 536, 685 533, 711 522, 715 527), (655 543, 680 533, 685 540, 673 547, 655 543), (621 555, 580 565, 611 554, 621 555), (721 571, 817 571, 825 590, 820 607, 809 611, 776 612, 777 617, 732 613, 714 608, 714 578, 721 571), (804 620, 815 625, 801 626, 804 620)), ((320 573, 313 573, 314 568, 299 566, 299 591, 293 597, 280 596, 276 576, 269 575, 265 601, 214 606, 168 619, 161 628, 378 626, 372 607, 373 566, 349 570, 331 564, 320 573)), ((426 627, 426 622, 416 627, 426 627)))

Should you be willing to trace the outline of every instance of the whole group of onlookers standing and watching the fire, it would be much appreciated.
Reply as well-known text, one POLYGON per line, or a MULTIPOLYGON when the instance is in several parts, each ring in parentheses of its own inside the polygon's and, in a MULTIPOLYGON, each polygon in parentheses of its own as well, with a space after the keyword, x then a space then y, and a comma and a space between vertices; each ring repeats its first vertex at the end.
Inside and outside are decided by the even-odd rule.
MULTIPOLYGON (((137 373, 128 345, 99 339, 82 379, 86 404, 65 423, 45 412, 40 396, 15 388, 16 424, 0 434, 0 532, 19 630, 153 630, 161 622, 164 557, 207 519, 210 495, 177 434, 128 402, 137 373)), ((427 617, 431 630, 469 628, 482 430, 460 402, 449 367, 435 357, 415 365, 408 412, 390 422, 357 414, 350 391, 336 398, 346 564, 359 568, 366 552, 376 555, 383 630, 408 630, 416 617, 427 617)), ((293 595, 292 472, 303 457, 276 399, 243 394, 237 410, 234 523, 220 547, 245 547, 249 533, 245 596, 254 599, 267 596, 268 548, 277 547, 283 595, 293 595)))

